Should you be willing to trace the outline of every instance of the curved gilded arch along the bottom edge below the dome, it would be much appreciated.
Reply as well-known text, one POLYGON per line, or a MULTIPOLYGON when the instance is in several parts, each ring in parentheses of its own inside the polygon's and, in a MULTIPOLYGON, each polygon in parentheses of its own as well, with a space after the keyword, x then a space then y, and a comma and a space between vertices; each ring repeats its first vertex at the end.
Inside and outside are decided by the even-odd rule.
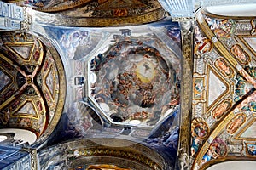
POLYGON ((38 157, 42 169, 168 168, 163 158, 154 150, 124 139, 79 139, 42 150, 38 157))

